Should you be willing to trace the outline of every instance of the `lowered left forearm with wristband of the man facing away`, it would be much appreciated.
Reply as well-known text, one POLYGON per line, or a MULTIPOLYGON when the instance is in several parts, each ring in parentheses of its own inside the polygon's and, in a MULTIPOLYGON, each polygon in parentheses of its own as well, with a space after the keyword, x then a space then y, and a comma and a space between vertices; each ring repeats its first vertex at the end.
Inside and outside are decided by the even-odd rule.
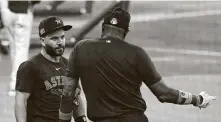
POLYGON ((67 77, 63 88, 63 94, 60 102, 59 118, 60 120, 70 120, 72 117, 72 106, 75 90, 78 86, 78 80, 67 77))

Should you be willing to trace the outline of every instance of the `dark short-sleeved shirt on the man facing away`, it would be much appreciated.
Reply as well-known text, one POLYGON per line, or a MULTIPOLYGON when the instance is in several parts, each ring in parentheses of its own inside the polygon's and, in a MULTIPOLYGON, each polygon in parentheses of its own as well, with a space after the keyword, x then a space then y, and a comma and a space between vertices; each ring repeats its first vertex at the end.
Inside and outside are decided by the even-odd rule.
POLYGON ((67 76, 81 79, 92 121, 144 113, 142 81, 149 86, 161 80, 142 48, 114 38, 78 42, 67 76))

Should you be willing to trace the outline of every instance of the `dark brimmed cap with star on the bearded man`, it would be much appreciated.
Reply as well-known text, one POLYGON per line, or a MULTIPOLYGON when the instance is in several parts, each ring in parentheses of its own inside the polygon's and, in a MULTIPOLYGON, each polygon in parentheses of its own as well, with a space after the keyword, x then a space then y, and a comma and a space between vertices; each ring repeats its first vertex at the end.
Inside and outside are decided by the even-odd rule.
POLYGON ((46 19, 42 20, 38 26, 40 37, 45 37, 47 34, 59 29, 68 31, 71 28, 71 25, 64 25, 63 21, 57 16, 47 17, 46 19))

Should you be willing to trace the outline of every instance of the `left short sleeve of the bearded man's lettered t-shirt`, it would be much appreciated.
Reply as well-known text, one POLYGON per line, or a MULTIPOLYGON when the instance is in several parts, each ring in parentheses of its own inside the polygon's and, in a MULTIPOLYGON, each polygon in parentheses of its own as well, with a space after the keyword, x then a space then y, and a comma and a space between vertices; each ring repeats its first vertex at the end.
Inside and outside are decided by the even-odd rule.
POLYGON ((34 88, 36 74, 34 64, 29 61, 22 63, 17 71, 15 89, 20 92, 31 93, 34 88))

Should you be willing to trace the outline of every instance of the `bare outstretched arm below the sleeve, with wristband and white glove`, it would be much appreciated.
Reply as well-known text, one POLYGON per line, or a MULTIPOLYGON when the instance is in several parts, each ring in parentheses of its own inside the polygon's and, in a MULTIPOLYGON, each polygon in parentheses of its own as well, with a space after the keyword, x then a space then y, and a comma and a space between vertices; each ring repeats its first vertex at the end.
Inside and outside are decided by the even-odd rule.
POLYGON ((163 80, 148 86, 152 93, 158 98, 160 102, 174 103, 180 105, 193 104, 199 108, 206 108, 210 105, 215 96, 210 96, 205 92, 199 95, 193 95, 188 92, 176 90, 168 87, 163 80))

